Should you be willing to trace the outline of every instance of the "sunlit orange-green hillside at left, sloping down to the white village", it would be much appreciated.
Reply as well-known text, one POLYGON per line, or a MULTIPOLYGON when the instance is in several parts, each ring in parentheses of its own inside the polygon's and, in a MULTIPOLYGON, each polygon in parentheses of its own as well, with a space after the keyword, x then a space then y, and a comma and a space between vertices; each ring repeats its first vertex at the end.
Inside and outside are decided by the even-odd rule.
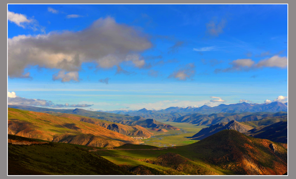
POLYGON ((46 113, 8 108, 8 133, 46 141, 112 147, 141 141, 101 126, 46 113))

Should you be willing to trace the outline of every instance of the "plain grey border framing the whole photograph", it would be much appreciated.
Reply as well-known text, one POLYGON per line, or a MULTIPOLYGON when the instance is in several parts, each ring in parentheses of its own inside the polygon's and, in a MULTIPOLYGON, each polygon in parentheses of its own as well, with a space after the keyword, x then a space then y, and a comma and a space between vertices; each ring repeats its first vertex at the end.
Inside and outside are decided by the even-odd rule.
MULTIPOLYGON (((288 91, 290 90, 290 96, 289 98, 289 105, 288 110, 290 109, 288 113, 288 117, 290 117, 289 120, 289 126, 290 130, 288 130, 288 136, 289 136, 289 152, 288 152, 288 176, 269 176, 270 178, 279 178, 279 177, 288 177, 288 178, 296 178, 295 176, 295 161, 296 161, 296 154, 295 154, 295 131, 293 129, 293 126, 296 126, 296 120, 294 120, 294 116, 296 115, 295 109, 295 95, 293 89, 295 89, 295 78, 296 77, 296 70, 294 70, 295 65, 295 20, 296 17, 295 13, 295 0, 286 0, 286 1, 279 1, 279 0, 185 0, 185 1, 178 1, 178 0, 87 0, 87 1, 80 1, 80 0, 2 0, 0 5, 0 14, 1 14, 1 22, 5 23, 6 25, 1 26, 1 33, 0 33, 0 39, 1 39, 1 65, 0 65, 0 80, 1 83, 5 83, 6 85, 1 85, 1 93, 0 93, 0 100, 3 101, 0 103, 0 110, 1 110, 1 141, 3 142, 3 145, 0 145, 0 161, 1 161, 1 175, 0 178, 17 178, 18 176, 7 176, 7 4, 288 4, 288 17, 290 21, 288 22, 288 72, 289 77, 288 78, 288 91), (290 53, 289 53, 290 52, 290 53), (4 55, 5 54, 5 55, 4 55), (290 70, 289 70, 290 69, 290 70), (289 83, 290 79, 290 83, 289 83), (6 101, 6 102, 4 102, 6 101), (5 104, 6 103, 6 104, 5 104), (5 143, 5 145, 4 145, 5 143)), ((276 24, 275 24, 276 25, 276 24)), ((275 84, 276 88, 276 84, 275 84)), ((30 179, 34 176, 20 176, 25 179, 30 179)), ((42 177, 42 178, 49 178, 51 176, 35 176, 35 177, 42 177)), ((64 176, 54 176, 56 178, 62 178, 64 176)), ((82 178, 85 176, 70 176, 71 178, 82 178)), ((121 178, 121 179, 130 179, 130 178, 214 178, 215 176, 87 176, 88 178, 121 178)), ((231 176, 219 176, 219 178, 227 179, 231 176)), ((252 178, 260 178, 261 176, 234 176, 237 177, 252 177, 252 178)), ((262 176, 264 177, 264 176, 262 176)), ((268 177, 268 176, 265 176, 268 177)))

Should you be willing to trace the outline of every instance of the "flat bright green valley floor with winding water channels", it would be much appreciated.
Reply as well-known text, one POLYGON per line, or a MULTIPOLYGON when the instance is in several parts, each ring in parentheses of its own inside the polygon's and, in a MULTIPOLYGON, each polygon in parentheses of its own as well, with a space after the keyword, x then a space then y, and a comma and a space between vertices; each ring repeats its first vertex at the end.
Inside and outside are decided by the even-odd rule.
POLYGON ((173 125, 180 130, 168 130, 168 132, 153 131, 153 135, 150 138, 142 139, 145 145, 167 147, 167 146, 181 146, 197 142, 190 140, 194 134, 198 133, 202 128, 206 128, 205 125, 196 126, 191 123, 181 122, 166 122, 168 125, 173 125))

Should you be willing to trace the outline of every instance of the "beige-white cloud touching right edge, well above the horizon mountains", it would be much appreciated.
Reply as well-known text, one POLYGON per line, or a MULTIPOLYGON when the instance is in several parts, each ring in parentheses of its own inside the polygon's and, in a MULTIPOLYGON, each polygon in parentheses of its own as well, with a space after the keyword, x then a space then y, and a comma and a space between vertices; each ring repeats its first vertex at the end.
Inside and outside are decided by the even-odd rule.
POLYGON ((287 57, 279 57, 275 55, 269 59, 261 60, 258 62, 257 67, 280 67, 285 68, 288 65, 287 57))

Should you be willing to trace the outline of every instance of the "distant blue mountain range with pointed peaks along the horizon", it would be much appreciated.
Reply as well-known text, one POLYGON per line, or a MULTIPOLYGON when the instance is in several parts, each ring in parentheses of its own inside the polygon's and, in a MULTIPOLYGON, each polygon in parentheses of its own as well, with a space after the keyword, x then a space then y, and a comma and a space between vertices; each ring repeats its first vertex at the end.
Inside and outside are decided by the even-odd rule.
POLYGON ((272 102, 265 104, 251 104, 251 103, 237 103, 237 104, 220 104, 219 106, 209 107, 203 105, 201 107, 169 107, 167 109, 161 110, 147 110, 145 108, 138 111, 126 111, 126 110, 116 110, 108 111, 110 113, 130 115, 130 116, 141 116, 144 118, 153 118, 153 119, 169 119, 175 120, 184 115, 200 113, 200 114, 213 114, 213 113, 242 113, 242 112, 287 112, 288 103, 281 102, 272 102))

